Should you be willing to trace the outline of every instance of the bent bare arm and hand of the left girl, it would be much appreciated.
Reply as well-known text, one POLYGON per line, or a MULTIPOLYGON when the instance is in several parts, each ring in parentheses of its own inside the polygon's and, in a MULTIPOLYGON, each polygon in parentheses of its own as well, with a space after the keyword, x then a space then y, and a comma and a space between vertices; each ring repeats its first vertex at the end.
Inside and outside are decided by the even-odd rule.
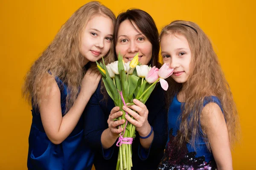
POLYGON ((91 69, 85 74, 81 91, 70 110, 62 117, 61 94, 54 77, 47 76, 49 94, 42 96, 39 108, 44 130, 49 140, 54 144, 60 144, 73 131, 84 111, 87 102, 96 90, 101 76, 91 69))

